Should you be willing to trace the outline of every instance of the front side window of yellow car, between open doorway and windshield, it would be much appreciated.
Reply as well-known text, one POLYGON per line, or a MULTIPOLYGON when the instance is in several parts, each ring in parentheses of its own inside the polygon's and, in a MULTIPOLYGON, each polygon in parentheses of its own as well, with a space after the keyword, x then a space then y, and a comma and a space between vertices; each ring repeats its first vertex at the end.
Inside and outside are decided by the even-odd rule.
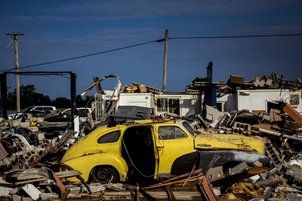
POLYGON ((158 138, 162 140, 173 140, 187 137, 186 133, 177 126, 160 126, 158 127, 158 134, 158 138))

